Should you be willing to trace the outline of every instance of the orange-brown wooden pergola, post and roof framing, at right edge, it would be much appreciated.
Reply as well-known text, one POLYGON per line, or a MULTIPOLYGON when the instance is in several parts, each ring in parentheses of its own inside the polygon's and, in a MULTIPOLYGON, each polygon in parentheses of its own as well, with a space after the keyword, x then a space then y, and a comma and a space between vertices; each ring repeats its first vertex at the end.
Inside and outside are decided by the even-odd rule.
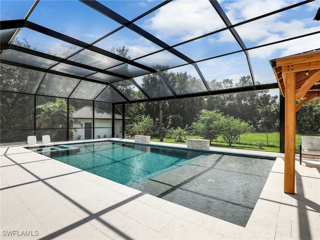
POLYGON ((295 114, 305 102, 320 97, 320 50, 280 57, 270 63, 284 97, 284 192, 294 194, 295 114))

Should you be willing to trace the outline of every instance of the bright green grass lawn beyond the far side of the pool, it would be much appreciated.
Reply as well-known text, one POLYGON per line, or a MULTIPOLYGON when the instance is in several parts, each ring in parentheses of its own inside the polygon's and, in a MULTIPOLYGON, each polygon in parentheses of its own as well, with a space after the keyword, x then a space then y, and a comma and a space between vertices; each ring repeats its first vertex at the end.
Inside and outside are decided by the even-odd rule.
MULTIPOLYGON (((202 139, 203 137, 200 136, 186 136, 186 139, 193 138, 193 139, 202 139)), ((222 137, 218 137, 216 140, 212 140, 210 142, 211 146, 217 147, 229 147, 229 148, 240 148, 240 149, 249 149, 249 150, 263 150, 263 151, 275 151, 279 152, 279 142, 280 142, 280 134, 278 132, 275 133, 247 133, 240 135, 239 141, 236 141, 232 144, 232 146, 228 146, 226 142, 223 141, 222 137), (264 146, 262 149, 259 149, 255 143, 256 142, 263 142, 264 146)), ((151 137, 151 141, 159 141, 159 138, 151 137)), ((173 138, 163 138, 164 142, 171 142, 171 143, 181 143, 186 144, 185 142, 176 142, 173 138)), ((295 135, 295 145, 298 146, 301 144, 301 135, 295 135)))

